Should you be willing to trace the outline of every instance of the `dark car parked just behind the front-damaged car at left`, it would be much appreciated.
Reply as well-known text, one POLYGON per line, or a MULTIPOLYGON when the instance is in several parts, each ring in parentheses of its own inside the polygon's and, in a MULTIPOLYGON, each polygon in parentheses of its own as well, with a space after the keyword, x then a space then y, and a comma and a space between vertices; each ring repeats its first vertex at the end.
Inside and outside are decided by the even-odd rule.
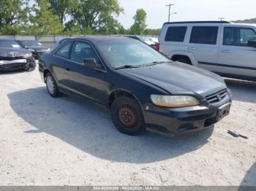
POLYGON ((42 46, 42 44, 36 40, 18 40, 17 42, 20 46, 32 52, 35 59, 38 59, 40 55, 50 50, 49 47, 42 46))

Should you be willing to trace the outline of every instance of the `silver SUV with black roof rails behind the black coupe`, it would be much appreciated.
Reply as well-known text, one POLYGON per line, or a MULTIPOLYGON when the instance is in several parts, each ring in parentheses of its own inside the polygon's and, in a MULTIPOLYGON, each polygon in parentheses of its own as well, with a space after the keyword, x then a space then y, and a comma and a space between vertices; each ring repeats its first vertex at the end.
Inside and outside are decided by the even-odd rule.
POLYGON ((256 81, 256 25, 227 21, 165 23, 159 51, 223 77, 256 81))

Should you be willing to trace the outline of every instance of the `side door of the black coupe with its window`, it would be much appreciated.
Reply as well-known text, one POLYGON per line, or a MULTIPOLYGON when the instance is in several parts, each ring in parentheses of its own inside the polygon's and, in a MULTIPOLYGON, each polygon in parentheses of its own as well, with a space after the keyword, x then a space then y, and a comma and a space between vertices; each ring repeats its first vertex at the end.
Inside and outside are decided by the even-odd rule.
POLYGON ((105 91, 105 75, 107 71, 92 44, 86 41, 75 41, 72 45, 69 59, 69 90, 102 104, 106 103, 108 100, 108 95, 105 91), (101 66, 101 69, 83 66, 83 59, 85 58, 94 58, 101 66))

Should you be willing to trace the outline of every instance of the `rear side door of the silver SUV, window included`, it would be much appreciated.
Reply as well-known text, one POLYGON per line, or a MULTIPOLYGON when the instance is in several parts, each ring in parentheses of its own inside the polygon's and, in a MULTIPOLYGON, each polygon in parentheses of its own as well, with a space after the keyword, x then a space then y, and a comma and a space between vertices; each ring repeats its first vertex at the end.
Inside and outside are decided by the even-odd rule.
POLYGON ((187 50, 192 52, 198 66, 215 70, 219 54, 219 26, 192 26, 187 50))

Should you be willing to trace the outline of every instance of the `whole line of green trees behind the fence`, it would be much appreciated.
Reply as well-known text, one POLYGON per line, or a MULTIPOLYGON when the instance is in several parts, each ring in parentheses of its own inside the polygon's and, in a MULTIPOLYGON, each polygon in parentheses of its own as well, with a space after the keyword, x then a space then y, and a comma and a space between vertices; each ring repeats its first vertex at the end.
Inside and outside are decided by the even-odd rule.
POLYGON ((116 17, 124 9, 118 0, 0 0, 0 34, 16 35, 85 35, 148 34, 146 12, 138 9, 131 28, 125 29, 116 17))

